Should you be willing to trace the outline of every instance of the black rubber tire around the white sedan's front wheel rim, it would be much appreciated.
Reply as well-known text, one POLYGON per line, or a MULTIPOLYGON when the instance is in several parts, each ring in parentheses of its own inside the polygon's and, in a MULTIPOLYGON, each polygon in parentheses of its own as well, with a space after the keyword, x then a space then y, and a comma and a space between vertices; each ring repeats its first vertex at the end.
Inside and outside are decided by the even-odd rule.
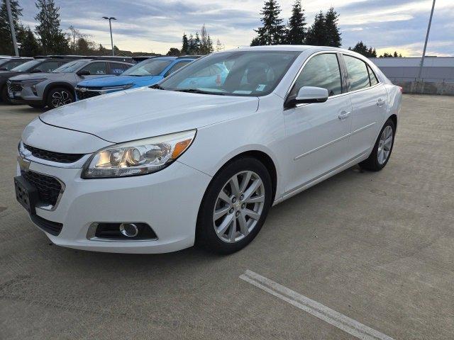
MULTIPOLYGON (((243 183, 243 181, 245 181, 245 177, 241 176, 242 175, 240 175, 239 178, 242 179, 241 183, 243 183)), ((253 182, 251 181, 249 183, 253 182)), ((238 203, 239 202, 240 201, 238 200, 238 203)), ((268 173, 266 167, 260 161, 258 161, 258 159, 251 157, 244 157, 233 160, 233 162, 226 164, 226 166, 223 166, 223 168, 218 171, 218 174, 214 176, 208 188, 206 189, 204 198, 200 205, 199 216, 197 218, 196 245, 203 246, 205 249, 218 254, 231 254, 235 251, 243 249, 255 238, 255 236, 257 236, 258 232, 260 232, 260 229, 262 228, 262 225, 267 217, 268 211, 270 210, 271 204, 272 182, 270 174, 268 173), (225 186, 227 185, 226 183, 228 183, 228 181, 233 176, 242 171, 252 171, 254 173, 253 176, 257 175, 258 178, 260 178, 263 184, 260 190, 264 191, 265 199, 263 200, 261 214, 260 217, 258 217, 257 222, 252 219, 251 223, 253 224, 255 222, 253 229, 251 229, 246 236, 240 234, 243 235, 240 236, 243 237, 243 239, 239 239, 234 243, 228 243, 226 241, 223 241, 221 237, 218 237, 218 234, 214 229, 214 208, 216 204, 218 204, 218 195, 221 193, 221 190, 225 188, 225 186)), ((240 205, 240 207, 237 206, 237 208, 241 209, 242 206, 243 205, 240 205)), ((249 207, 250 205, 247 205, 245 209, 249 207)), ((237 212, 233 212, 233 215, 231 216, 237 221, 237 217, 234 217, 236 213, 237 212)), ((248 218, 249 223, 250 217, 248 217, 248 215, 244 216, 245 219, 248 218)), ((246 223, 246 225, 248 225, 248 223, 246 223)), ((230 228, 232 227, 229 227, 229 229, 230 228)), ((238 230, 238 233, 240 233, 239 224, 236 229, 238 230)))

